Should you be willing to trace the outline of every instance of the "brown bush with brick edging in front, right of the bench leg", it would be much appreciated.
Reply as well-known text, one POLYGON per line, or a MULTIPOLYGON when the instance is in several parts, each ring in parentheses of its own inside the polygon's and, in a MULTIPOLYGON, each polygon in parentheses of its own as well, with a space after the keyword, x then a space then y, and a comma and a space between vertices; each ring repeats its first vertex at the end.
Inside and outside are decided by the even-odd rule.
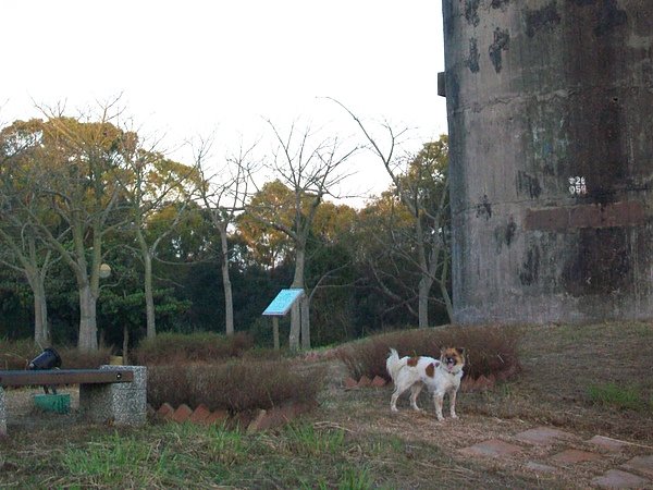
POLYGON ((323 373, 288 360, 232 359, 222 364, 175 364, 148 368, 147 399, 152 406, 168 402, 230 413, 271 408, 293 401, 313 403, 323 373))

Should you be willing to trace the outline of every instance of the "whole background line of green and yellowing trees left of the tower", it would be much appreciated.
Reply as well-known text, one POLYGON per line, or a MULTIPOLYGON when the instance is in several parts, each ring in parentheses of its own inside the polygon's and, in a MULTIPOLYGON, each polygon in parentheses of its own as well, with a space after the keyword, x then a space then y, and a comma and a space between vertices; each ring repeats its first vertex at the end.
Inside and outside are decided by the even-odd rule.
MULTIPOLYGON (((29 249, 23 240, 33 237, 36 250, 61 257, 49 264, 44 280, 57 342, 82 346, 77 327, 88 315, 81 308, 86 286, 97 304, 95 339, 120 351, 147 336, 143 243, 151 258, 157 331, 224 331, 227 314, 220 297, 226 260, 234 330, 250 331, 271 345, 271 323, 261 313, 296 279, 298 252, 315 345, 415 324, 423 297, 431 324, 447 319, 446 137, 394 166, 392 186, 362 209, 324 200, 325 188, 320 195, 310 186, 301 191, 286 180, 271 180, 245 212, 234 215, 225 229, 226 246, 212 215, 219 207, 187 199, 199 176, 145 151, 136 134, 109 120, 16 122, 2 130, 2 137, 4 244, 21 238, 15 244, 29 249), (144 163, 140 173, 138 162, 144 163), (186 183, 183 175, 189 177, 186 183), (102 262, 112 273, 100 280, 102 262), (424 296, 426 281, 435 286, 424 296)), ((278 163, 278 170, 291 168, 278 163)), ((36 264, 45 264, 46 255, 36 257, 36 264)), ((27 286, 24 270, 9 267, 19 260, 16 250, 2 248, 0 335, 26 336, 35 319, 34 287, 27 286)), ((288 320, 281 328, 289 342, 288 320)))

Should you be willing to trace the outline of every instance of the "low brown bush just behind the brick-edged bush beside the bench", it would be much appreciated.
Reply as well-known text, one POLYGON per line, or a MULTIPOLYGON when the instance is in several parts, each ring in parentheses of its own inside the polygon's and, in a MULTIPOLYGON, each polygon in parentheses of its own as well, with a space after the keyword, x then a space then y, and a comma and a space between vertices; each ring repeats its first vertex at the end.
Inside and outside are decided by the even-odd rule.
POLYGON ((143 366, 181 363, 214 363, 229 357, 241 357, 252 348, 252 338, 243 332, 221 335, 214 332, 159 333, 144 340, 132 354, 135 364, 143 366))

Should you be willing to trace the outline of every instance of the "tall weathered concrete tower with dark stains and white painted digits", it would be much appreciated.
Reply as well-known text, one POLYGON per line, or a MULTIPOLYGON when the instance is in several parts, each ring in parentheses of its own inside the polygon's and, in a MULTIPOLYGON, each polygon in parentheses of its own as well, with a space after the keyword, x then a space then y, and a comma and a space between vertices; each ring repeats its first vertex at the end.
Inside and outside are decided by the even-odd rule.
POLYGON ((459 323, 653 317, 653 1, 444 0, 459 323))

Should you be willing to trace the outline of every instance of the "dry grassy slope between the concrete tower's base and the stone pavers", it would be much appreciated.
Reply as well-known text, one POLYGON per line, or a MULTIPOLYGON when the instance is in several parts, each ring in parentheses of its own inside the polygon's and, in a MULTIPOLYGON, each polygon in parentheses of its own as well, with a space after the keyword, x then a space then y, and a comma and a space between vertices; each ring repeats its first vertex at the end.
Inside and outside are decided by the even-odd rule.
POLYGON ((480 415, 534 420, 653 442, 653 324, 609 322, 523 330, 521 373, 467 396, 480 415), (636 390, 642 403, 595 403, 592 387, 636 390))

